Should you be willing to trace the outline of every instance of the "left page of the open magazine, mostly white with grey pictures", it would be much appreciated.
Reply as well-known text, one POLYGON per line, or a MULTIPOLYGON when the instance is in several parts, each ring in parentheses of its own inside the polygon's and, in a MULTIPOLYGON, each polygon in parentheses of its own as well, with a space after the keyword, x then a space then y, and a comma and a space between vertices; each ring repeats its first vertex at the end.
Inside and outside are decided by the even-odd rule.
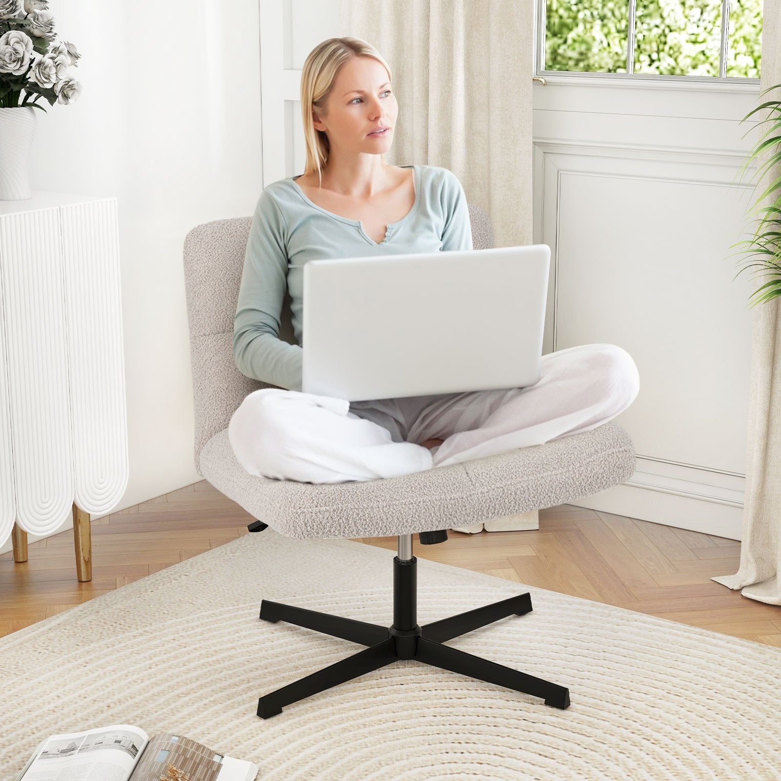
POLYGON ((52 735, 20 781, 128 781, 148 742, 143 729, 127 724, 52 735))

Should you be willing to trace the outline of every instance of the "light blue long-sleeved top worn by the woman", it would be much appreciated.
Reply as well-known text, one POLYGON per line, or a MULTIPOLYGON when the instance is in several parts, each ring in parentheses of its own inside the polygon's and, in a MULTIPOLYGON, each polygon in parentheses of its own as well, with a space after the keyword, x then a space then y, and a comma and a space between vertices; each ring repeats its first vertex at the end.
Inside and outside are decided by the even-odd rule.
POLYGON ((377 244, 357 219, 322 209, 287 177, 262 191, 252 216, 234 318, 234 360, 244 376, 301 391, 304 265, 312 259, 357 258, 472 249, 469 207, 461 182, 440 166, 413 169, 415 203, 389 223, 377 244), (286 288, 298 344, 280 339, 286 288))

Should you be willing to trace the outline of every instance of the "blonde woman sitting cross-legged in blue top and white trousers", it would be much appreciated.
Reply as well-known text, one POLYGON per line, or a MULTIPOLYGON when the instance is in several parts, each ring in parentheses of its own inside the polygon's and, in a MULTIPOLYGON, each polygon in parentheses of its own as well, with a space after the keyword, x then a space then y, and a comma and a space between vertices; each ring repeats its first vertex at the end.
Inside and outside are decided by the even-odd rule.
POLYGON ((230 420, 249 473, 308 483, 395 477, 594 429, 632 403, 637 367, 614 344, 542 356, 530 387, 353 402, 301 393, 305 262, 473 248, 453 173, 385 162, 398 102, 391 68, 366 41, 330 38, 310 52, 301 114, 305 173, 259 198, 234 321, 238 369, 279 386, 249 394, 230 420), (286 289, 298 344, 279 338, 286 289))

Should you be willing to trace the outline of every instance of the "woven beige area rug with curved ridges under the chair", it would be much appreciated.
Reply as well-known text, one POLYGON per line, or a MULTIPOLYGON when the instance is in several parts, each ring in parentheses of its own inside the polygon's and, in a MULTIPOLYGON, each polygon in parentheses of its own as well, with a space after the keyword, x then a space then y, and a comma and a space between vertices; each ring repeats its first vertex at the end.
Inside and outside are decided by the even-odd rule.
POLYGON ((268 598, 389 626, 395 551, 248 534, 0 639, 0 778, 50 734, 133 724, 258 779, 781 779, 781 649, 418 559, 418 622, 531 593, 448 642, 568 686, 537 697, 414 660, 259 719, 362 646, 259 619, 268 598))

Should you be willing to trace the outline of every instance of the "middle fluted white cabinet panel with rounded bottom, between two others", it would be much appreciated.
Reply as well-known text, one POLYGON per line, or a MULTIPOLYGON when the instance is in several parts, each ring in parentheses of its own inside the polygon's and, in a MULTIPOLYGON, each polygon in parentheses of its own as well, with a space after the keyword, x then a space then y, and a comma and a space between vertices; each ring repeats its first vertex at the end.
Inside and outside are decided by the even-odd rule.
POLYGON ((45 535, 73 505, 59 208, 0 216, 16 519, 45 535))

